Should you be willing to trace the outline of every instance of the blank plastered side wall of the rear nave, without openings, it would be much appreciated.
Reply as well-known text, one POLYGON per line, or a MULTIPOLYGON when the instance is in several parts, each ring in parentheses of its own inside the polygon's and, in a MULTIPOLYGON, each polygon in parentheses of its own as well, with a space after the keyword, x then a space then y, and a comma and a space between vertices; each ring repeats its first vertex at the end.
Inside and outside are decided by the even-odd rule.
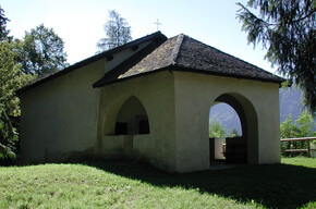
POLYGON ((26 162, 95 155, 101 89, 93 84, 142 50, 126 49, 23 91, 21 150, 26 162))

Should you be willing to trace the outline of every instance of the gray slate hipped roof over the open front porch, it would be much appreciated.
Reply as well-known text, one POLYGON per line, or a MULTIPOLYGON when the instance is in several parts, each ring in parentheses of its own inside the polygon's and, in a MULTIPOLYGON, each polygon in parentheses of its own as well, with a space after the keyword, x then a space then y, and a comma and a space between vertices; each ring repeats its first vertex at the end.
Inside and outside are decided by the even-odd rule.
POLYGON ((282 83, 284 79, 183 34, 166 40, 118 79, 166 70, 282 83))

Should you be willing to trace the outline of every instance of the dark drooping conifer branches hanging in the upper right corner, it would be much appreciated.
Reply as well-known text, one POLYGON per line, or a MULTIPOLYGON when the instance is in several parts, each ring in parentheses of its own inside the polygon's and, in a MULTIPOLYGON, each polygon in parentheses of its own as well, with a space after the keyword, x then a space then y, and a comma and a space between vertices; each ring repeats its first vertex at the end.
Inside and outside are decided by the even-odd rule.
POLYGON ((304 103, 316 110, 316 1, 248 0, 238 3, 238 19, 248 42, 262 42, 266 59, 278 72, 295 82, 304 93, 304 103), (251 9, 259 10, 255 15, 251 9))

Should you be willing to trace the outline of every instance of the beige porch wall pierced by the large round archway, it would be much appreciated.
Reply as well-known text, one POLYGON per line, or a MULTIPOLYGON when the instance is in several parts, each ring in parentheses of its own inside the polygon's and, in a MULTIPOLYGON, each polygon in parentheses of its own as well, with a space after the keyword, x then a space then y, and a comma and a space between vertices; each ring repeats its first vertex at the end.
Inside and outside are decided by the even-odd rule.
POLYGON ((248 163, 280 162, 278 84, 189 72, 173 75, 178 172, 209 168, 209 110, 222 94, 233 96, 244 108, 251 126, 248 163))

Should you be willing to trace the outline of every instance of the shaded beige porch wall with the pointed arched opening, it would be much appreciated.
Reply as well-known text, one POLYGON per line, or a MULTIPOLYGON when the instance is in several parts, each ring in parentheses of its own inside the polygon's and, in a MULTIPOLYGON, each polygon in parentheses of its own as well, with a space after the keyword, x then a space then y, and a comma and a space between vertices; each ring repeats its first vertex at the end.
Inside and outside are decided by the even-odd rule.
POLYGON ((175 170, 175 124, 173 75, 155 73, 107 85, 101 89, 98 126, 98 155, 148 161, 155 167, 175 170), (123 103, 136 97, 149 119, 149 134, 114 135, 116 121, 123 103))

